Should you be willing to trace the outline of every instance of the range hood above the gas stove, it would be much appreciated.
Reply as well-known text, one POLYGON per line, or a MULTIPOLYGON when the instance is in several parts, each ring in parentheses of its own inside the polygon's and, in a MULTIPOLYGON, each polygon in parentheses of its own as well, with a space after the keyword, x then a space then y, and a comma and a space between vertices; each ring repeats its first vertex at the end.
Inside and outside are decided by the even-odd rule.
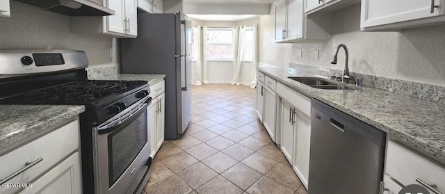
POLYGON ((17 3, 69 16, 115 15, 114 10, 88 0, 13 0, 17 3))

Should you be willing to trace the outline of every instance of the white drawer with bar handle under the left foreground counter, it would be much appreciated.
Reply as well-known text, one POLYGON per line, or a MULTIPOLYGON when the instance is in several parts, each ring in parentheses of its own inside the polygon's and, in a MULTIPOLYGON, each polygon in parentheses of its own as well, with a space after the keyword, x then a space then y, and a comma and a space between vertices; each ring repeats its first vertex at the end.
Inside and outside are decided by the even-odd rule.
MULTIPOLYGON (((25 163, 42 161, 36 163, 31 168, 20 173, 6 183, 26 184, 38 177, 52 165, 61 161, 65 156, 72 153, 79 147, 79 121, 75 120, 66 124, 49 134, 46 134, 31 143, 23 145, 4 156, 0 157, 0 179, 5 179, 9 175, 25 167, 25 163)), ((0 193, 14 193, 18 188, 0 187, 0 193)))

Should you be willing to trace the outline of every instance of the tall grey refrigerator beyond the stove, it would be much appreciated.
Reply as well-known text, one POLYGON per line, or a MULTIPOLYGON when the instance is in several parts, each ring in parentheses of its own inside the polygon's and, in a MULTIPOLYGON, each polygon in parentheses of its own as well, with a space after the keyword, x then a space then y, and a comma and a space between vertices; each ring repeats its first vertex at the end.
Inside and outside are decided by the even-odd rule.
POLYGON ((165 74, 165 138, 177 139, 192 116, 191 22, 181 13, 138 13, 138 37, 120 40, 121 72, 165 74))

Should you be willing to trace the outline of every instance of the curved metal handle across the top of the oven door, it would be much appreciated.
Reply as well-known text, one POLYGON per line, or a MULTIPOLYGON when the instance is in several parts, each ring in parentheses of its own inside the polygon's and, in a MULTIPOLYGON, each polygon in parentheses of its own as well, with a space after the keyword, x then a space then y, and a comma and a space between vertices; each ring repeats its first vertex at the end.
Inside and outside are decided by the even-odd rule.
POLYGON ((127 125, 131 124, 134 120, 139 118, 139 116, 147 110, 147 106, 149 104, 152 104, 152 97, 145 97, 144 99, 140 100, 140 102, 137 103, 136 107, 139 107, 136 111, 133 111, 132 108, 136 107, 129 107, 131 111, 124 115, 120 115, 118 118, 111 118, 109 120, 113 120, 113 122, 105 122, 107 124, 104 124, 104 126, 97 127, 97 134, 110 134, 111 132, 115 131, 116 129, 119 129, 124 125, 124 127, 127 127, 127 125), (141 106, 142 104, 142 106, 141 106))

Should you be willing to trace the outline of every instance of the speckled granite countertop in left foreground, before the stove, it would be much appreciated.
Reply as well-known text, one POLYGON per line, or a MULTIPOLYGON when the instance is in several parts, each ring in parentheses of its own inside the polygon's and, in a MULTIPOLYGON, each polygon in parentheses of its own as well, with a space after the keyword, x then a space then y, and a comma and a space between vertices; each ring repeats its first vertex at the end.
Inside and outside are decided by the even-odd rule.
POLYGON ((0 105, 0 150, 85 111, 80 105, 0 105))

